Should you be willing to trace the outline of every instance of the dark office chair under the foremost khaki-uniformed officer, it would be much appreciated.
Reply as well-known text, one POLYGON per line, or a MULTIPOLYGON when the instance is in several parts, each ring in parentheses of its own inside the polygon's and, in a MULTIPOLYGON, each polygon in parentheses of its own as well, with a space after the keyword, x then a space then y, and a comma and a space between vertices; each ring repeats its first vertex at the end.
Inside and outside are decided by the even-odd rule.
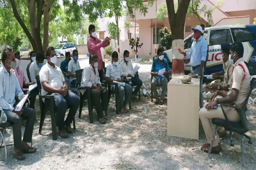
POLYGON ((252 141, 251 141, 251 138, 249 136, 247 136, 245 133, 247 131, 249 131, 249 124, 248 124, 248 121, 247 121, 247 118, 246 118, 246 105, 247 105, 247 102, 248 102, 248 99, 251 95, 251 92, 252 90, 256 87, 256 78, 253 78, 251 80, 251 88, 250 88, 250 91, 244 101, 244 103, 239 106, 239 107, 236 107, 236 106, 231 106, 231 105, 227 105, 227 104, 221 104, 221 109, 222 109, 222 112, 224 114, 224 117, 225 117, 225 120, 224 119, 212 119, 212 123, 214 125, 216 125, 216 128, 214 129, 213 131, 213 138, 211 140, 211 144, 210 144, 210 148, 209 148, 209 152, 208 152, 208 158, 210 158, 210 154, 211 154, 211 150, 212 150, 212 146, 213 146, 213 142, 214 142, 214 139, 215 139, 215 134, 217 132, 217 128, 218 126, 220 127, 224 127, 226 130, 229 130, 229 134, 230 134, 230 145, 231 146, 234 146, 233 144, 233 139, 232 139, 232 132, 236 132, 239 134, 239 139, 240 139, 240 142, 241 142, 241 154, 242 154, 242 158, 241 158, 241 162, 242 162, 242 166, 245 167, 245 160, 244 160, 244 138, 243 136, 245 136, 246 138, 249 139, 248 143, 249 144, 252 144, 252 141), (223 109, 223 106, 225 107, 231 107, 231 108, 234 108, 238 114, 239 114, 239 117, 240 117, 240 121, 239 122, 231 122, 228 120, 227 118, 227 115, 223 109))

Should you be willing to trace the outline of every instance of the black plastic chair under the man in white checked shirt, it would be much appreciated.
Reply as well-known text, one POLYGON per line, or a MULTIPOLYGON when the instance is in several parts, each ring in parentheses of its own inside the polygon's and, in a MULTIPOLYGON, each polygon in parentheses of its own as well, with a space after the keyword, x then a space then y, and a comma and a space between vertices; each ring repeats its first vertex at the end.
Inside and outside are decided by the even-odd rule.
POLYGON ((88 112, 89 112, 89 120, 90 123, 93 123, 93 106, 91 106, 91 97, 90 97, 90 87, 81 87, 81 81, 82 81, 82 74, 83 74, 83 69, 76 70, 76 80, 77 80, 77 91, 79 92, 80 96, 80 106, 79 106, 79 118, 81 118, 82 114, 82 109, 83 109, 83 104, 84 101, 88 101, 88 112), (82 93, 81 91, 84 90, 85 92, 82 93))

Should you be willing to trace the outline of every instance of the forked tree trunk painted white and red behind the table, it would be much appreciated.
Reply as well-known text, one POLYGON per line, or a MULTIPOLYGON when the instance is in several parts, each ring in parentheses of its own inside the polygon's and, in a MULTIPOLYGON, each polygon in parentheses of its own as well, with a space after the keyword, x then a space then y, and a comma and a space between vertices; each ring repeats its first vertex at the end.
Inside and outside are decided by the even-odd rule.
POLYGON ((175 13, 173 0, 166 0, 169 23, 172 32, 172 74, 184 75, 184 56, 177 52, 184 50, 184 25, 190 0, 179 0, 175 13))

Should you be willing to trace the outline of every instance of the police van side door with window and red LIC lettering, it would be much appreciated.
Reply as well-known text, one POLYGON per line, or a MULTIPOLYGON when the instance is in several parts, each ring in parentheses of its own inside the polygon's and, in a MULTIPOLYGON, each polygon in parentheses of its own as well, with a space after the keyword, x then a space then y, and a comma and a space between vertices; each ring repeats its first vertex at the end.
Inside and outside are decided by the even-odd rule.
POLYGON ((220 46, 222 43, 233 43, 230 29, 210 30, 209 55, 206 59, 206 74, 223 70, 220 46))

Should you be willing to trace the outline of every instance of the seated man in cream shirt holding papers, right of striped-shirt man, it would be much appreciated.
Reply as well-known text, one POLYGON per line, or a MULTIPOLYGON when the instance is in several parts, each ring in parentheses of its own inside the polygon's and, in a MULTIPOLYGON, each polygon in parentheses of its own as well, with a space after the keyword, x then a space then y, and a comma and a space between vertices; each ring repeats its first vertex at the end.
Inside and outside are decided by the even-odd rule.
MULTIPOLYGON (((142 81, 139 79, 138 76, 131 75, 133 66, 132 62, 129 61, 129 54, 129 51, 124 50, 124 60, 120 63, 120 67, 121 75, 127 78, 127 80, 129 81, 129 85, 136 86, 132 94, 132 98, 134 98, 134 96, 137 95, 140 87, 142 86, 142 81)), ((136 72, 136 74, 138 74, 138 71, 136 72)))

